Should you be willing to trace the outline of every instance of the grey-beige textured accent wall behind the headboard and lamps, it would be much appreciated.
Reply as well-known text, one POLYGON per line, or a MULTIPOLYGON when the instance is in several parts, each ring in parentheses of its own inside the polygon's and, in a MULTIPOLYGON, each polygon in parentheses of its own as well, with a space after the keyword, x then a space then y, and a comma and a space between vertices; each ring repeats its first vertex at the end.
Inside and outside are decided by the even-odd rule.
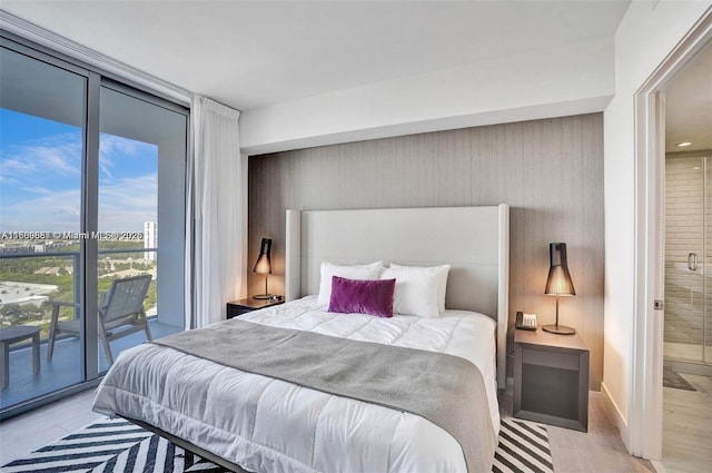
MULTIPOLYGON (((288 208, 508 204, 510 322, 514 324, 516 311, 536 313, 540 325, 554 322, 554 298, 544 295, 548 244, 565 242, 576 296, 560 298, 560 322, 575 327, 589 345, 591 388, 600 390, 604 278, 602 114, 251 156, 248 166, 250 294, 264 292, 264 277, 251 274, 263 236, 274 238, 269 289, 284 294, 288 208)), ((508 346, 511 349, 511 341, 508 346)))

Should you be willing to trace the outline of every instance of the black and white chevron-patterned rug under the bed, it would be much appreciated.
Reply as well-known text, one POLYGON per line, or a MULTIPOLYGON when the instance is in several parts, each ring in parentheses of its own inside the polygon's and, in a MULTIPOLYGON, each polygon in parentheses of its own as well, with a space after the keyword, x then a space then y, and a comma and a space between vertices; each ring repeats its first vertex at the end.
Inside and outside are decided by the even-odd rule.
MULTIPOLYGON (((127 421, 102 420, 0 469, 1 472, 180 473, 225 470, 127 421)), ((553 472, 546 427, 503 418, 492 471, 553 472)))

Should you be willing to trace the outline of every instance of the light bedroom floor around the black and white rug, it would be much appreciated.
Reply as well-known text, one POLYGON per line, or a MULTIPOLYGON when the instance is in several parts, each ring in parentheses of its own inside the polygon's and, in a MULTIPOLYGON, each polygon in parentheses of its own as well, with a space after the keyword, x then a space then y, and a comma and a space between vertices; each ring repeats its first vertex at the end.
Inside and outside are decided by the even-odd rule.
MULTIPOLYGON (((0 423, 0 465, 99 418, 91 412, 92 400, 93 391, 90 390, 0 423)), ((512 415, 511 396, 502 396, 500 405, 503 416, 512 415)), ((589 412, 587 433, 547 426, 557 473, 654 472, 650 462, 625 452, 599 393, 591 393, 589 412)))

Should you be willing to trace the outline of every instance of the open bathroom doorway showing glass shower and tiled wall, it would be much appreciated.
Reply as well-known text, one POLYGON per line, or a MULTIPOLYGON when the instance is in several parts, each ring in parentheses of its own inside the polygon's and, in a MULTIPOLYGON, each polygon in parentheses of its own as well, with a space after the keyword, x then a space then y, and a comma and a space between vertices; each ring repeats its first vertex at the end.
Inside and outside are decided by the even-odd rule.
POLYGON ((712 464, 712 42, 675 75, 665 100, 662 464, 712 464))

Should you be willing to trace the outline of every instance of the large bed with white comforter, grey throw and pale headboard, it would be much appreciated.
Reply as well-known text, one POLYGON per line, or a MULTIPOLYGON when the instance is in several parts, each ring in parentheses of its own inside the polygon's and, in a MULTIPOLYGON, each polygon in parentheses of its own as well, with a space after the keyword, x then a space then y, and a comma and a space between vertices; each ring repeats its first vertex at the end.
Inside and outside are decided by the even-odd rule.
MULTIPOLYGON (((457 472, 491 464, 500 425, 496 390, 505 381, 508 207, 288 210, 286 228, 286 304, 206 328, 207 344, 205 338, 184 336, 186 344, 192 339, 210 345, 215 352, 210 356, 186 352, 180 339, 123 352, 99 386, 95 410, 129 418, 235 471, 457 472), (337 266, 384 262, 396 274, 409 270, 396 265, 449 265, 447 308, 434 317, 328 312, 320 294, 324 262, 337 266), (299 373, 291 377, 290 368, 285 368, 289 361, 280 361, 276 374, 269 375, 244 367, 240 363, 250 349, 267 346, 258 335, 253 337, 260 331, 267 331, 268 338, 274 338, 270 331, 316 337, 315 346, 338 338, 358 354, 370 353, 365 347, 375 349, 368 359, 400 359, 398 366, 404 368, 416 352, 436 363, 456 359, 476 366, 483 393, 476 398, 463 396, 457 407, 451 408, 454 403, 448 402, 447 411, 458 413, 462 404, 478 418, 473 424, 477 427, 451 431, 441 417, 409 406, 334 392, 330 384, 305 385, 299 368, 308 363, 298 362, 299 373), (230 344, 245 352, 233 353, 226 348, 230 344), (399 353, 408 356, 397 358, 399 353), (474 454, 465 449, 472 446, 472 438, 463 440, 468 435, 475 437, 474 454)), ((198 331, 190 332, 198 336, 198 331)), ((269 353, 279 352, 283 343, 279 338, 277 349, 269 353)), ((336 352, 342 352, 338 346, 336 352)), ((301 359, 298 356, 294 355, 301 359)), ((354 361, 347 367, 368 364, 354 361)), ((443 404, 437 396, 419 393, 419 384, 405 387, 417 403, 443 404)), ((398 390, 403 386, 394 392, 398 390)))

